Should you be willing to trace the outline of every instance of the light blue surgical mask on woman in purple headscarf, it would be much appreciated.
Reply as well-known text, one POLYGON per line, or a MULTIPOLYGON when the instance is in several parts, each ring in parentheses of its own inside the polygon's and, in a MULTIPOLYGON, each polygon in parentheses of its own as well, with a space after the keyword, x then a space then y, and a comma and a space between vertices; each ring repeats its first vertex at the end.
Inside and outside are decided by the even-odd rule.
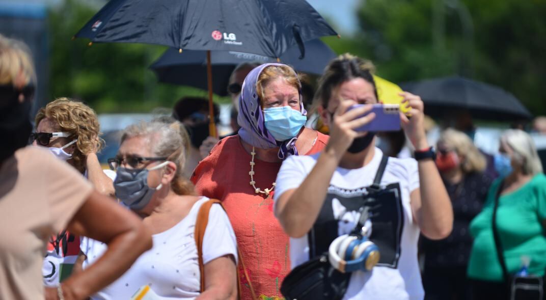
POLYGON ((307 117, 289 106, 264 109, 265 129, 276 140, 283 142, 298 135, 307 117))

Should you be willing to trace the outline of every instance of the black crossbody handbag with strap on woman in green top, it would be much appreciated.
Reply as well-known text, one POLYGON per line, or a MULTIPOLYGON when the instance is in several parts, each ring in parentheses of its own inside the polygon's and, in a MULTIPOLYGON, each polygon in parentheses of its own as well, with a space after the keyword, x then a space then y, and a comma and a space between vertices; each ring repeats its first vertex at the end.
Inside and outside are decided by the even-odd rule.
POLYGON ((510 300, 543 300, 544 299, 544 278, 536 275, 509 274, 503 256, 500 237, 496 228, 498 198, 501 195, 503 183, 500 184, 495 195, 495 206, 493 207, 492 230, 495 239, 495 248, 498 262, 501 264, 502 275, 506 283, 507 299, 510 300))

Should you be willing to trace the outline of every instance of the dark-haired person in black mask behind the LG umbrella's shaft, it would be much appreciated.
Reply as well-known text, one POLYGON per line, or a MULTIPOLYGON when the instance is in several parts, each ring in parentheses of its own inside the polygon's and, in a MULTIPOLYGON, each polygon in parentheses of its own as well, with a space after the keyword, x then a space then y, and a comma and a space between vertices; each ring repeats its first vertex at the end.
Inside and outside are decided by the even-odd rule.
MULTIPOLYGON (((214 104, 213 109, 214 122, 218 125, 218 106, 214 104)), ((189 178, 193 169, 204 158, 199 147, 209 136, 209 101, 202 97, 183 97, 174 105, 173 117, 186 127, 191 141, 183 171, 184 176, 189 178)))

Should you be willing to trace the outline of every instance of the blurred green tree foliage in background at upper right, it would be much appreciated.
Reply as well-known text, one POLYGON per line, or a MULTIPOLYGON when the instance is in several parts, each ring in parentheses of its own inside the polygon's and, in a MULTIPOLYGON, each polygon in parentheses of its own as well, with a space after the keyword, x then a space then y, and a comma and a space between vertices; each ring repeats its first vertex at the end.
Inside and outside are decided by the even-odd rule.
POLYGON ((546 114, 546 1, 362 0, 360 33, 327 39, 395 82, 460 74, 546 114))

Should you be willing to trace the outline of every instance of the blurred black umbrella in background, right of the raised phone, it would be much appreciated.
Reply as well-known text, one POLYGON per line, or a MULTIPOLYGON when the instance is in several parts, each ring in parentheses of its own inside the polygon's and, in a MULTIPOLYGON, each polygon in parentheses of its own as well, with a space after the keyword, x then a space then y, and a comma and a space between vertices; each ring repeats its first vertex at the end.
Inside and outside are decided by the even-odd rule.
POLYGON ((435 117, 453 114, 453 109, 466 109, 476 119, 483 120, 517 121, 532 117, 511 93, 464 77, 429 79, 400 86, 419 95, 425 103, 425 113, 435 117))

